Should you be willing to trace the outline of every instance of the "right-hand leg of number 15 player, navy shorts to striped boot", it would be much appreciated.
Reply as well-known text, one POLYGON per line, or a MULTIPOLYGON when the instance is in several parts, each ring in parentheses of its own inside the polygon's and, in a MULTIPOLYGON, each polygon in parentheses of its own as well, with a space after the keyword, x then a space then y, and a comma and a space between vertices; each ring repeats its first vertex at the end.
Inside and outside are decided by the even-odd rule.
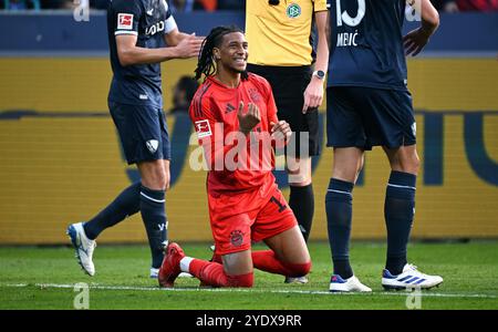
POLYGON ((392 169, 384 203, 387 255, 382 283, 386 288, 434 287, 443 279, 416 271, 406 257, 419 168, 412 97, 406 91, 362 89, 360 101, 361 110, 367 110, 365 122, 371 124, 367 136, 383 146, 392 169))

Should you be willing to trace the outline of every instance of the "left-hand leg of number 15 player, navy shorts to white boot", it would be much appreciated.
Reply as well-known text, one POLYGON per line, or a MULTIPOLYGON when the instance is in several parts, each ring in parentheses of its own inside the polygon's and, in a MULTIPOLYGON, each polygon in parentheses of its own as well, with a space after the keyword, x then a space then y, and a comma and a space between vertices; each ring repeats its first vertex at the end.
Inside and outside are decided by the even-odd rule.
POLYGON ((328 146, 334 147, 333 170, 325 195, 329 243, 334 272, 331 291, 370 291, 354 276, 350 263, 353 188, 363 167, 366 137, 351 95, 344 87, 326 91, 328 146))

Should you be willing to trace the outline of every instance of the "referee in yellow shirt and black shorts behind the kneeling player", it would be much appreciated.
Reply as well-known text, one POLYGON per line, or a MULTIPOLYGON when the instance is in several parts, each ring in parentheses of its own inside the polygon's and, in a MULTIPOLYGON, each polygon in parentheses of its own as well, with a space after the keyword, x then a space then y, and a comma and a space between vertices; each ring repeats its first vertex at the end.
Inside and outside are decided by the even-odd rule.
MULTIPOLYGON (((318 107, 329 64, 326 19, 326 0, 246 1, 248 71, 270 82, 279 118, 287 121, 294 133, 295 148, 286 152, 289 206, 305 240, 314 212, 311 157, 320 152, 318 107)), ((286 282, 305 283, 308 279, 286 278, 286 282)))

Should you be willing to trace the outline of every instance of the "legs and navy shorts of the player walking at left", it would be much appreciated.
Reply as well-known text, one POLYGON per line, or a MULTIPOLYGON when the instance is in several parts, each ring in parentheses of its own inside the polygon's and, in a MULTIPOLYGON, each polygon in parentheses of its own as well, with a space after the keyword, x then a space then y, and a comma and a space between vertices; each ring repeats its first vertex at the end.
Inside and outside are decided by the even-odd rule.
MULTIPOLYGON (((125 189, 96 218, 87 222, 84 226, 85 229, 81 227, 77 239, 84 239, 86 230, 90 236, 96 236, 103 229, 141 210, 153 257, 151 277, 156 278, 167 238, 165 189, 169 185, 170 146, 166 122, 162 110, 153 106, 110 103, 110 110, 120 133, 126 160, 128 164, 137 164, 142 181, 125 189)), ((70 227, 70 235, 72 235, 71 230, 70 227)), ((75 237, 71 236, 71 238, 73 240, 75 237)), ((81 240, 76 243, 85 243, 85 241, 81 240)), ((84 250, 82 245, 77 248, 80 247, 81 250, 76 249, 76 252, 80 252, 82 266, 85 268, 84 262, 86 262, 89 268, 93 267, 94 246, 90 247, 92 250, 84 250)))

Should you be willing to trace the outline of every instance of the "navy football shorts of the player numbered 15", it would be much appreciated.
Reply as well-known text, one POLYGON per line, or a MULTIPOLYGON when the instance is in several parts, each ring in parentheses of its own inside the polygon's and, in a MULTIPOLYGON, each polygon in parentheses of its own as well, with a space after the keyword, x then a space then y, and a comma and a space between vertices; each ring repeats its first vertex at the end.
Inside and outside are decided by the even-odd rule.
POLYGON ((416 144, 408 91, 361 86, 326 90, 326 146, 396 148, 416 144))

